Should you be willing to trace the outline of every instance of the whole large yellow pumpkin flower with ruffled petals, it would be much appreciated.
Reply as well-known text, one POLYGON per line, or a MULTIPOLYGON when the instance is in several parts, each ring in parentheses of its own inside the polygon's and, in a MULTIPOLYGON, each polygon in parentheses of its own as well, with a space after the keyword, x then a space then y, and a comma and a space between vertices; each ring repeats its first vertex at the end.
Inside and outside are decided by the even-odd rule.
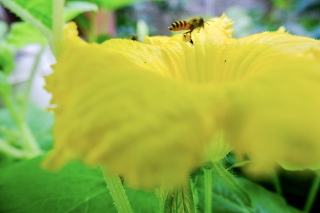
POLYGON ((182 34, 89 44, 69 23, 46 79, 56 123, 44 166, 81 159, 142 188, 231 149, 255 172, 320 167, 319 41, 283 29, 233 39, 232 20, 210 20, 193 45, 182 34))

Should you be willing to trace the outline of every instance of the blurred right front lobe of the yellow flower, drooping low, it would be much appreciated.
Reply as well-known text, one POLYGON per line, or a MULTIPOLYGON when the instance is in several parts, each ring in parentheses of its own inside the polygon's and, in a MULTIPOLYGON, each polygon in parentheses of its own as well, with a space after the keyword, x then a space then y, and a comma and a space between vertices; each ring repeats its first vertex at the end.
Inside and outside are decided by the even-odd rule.
MULTIPOLYGON (((318 54, 318 53, 317 53, 318 54)), ((303 54, 277 55, 227 89, 223 128, 238 153, 264 173, 320 168, 320 63, 303 54)))

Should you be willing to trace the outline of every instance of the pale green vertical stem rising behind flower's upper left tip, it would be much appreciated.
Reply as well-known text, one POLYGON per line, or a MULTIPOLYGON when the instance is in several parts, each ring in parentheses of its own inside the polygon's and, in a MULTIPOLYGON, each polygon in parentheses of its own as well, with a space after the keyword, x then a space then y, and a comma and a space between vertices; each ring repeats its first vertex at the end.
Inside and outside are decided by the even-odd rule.
POLYGON ((64 0, 53 0, 53 17, 52 17, 52 28, 53 36, 49 39, 49 43, 52 52, 55 56, 59 55, 64 50, 64 35, 63 35, 63 9, 64 0))

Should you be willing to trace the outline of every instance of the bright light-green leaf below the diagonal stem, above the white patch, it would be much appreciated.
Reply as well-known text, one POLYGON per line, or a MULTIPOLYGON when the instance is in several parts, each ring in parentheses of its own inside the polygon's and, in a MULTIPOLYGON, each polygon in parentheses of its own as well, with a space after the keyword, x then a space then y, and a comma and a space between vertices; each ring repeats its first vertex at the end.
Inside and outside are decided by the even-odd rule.
POLYGON ((11 25, 7 42, 19 48, 30 43, 40 43, 44 45, 47 43, 47 40, 34 26, 21 21, 11 25))

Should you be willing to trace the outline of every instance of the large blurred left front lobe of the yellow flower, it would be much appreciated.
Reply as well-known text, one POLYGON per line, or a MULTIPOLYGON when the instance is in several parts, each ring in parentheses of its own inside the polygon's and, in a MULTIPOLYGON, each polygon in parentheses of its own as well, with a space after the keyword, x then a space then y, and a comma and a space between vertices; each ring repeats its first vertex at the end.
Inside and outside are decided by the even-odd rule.
POLYGON ((82 159, 143 188, 184 181, 202 163, 216 126, 212 88, 167 77, 174 63, 158 46, 121 39, 88 44, 68 34, 47 77, 56 123, 44 166, 82 159))

